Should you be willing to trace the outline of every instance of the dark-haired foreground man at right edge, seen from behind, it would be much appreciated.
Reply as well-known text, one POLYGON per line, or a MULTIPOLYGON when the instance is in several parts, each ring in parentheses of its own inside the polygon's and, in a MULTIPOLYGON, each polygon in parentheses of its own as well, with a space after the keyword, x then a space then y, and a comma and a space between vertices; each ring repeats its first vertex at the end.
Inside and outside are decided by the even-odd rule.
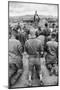
POLYGON ((46 59, 46 65, 47 67, 52 71, 52 67, 54 64, 57 65, 57 52, 58 52, 58 43, 56 40, 56 34, 52 33, 51 40, 46 43, 47 47, 47 55, 45 57, 46 59))

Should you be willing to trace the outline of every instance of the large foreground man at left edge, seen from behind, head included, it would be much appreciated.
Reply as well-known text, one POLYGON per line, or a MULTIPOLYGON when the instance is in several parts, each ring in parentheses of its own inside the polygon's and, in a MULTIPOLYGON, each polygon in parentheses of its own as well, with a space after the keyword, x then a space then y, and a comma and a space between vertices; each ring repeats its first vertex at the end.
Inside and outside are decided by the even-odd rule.
POLYGON ((22 45, 16 40, 16 32, 12 31, 12 37, 9 39, 9 88, 14 85, 22 74, 22 45))

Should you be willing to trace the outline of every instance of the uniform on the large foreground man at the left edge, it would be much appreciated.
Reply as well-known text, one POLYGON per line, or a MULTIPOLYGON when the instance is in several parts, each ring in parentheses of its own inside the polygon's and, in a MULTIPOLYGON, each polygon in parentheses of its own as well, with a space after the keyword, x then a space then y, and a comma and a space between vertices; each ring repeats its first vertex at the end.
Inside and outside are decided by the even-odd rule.
POLYGON ((17 71, 23 68, 21 51, 21 43, 14 38, 9 39, 9 84, 12 83, 11 80, 17 74, 17 71))

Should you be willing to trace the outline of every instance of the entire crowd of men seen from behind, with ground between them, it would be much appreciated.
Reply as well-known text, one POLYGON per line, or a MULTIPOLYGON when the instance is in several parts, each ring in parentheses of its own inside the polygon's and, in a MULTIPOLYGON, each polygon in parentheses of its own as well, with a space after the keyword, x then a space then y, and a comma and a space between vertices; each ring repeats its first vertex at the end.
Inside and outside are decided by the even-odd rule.
POLYGON ((9 26, 8 54, 9 88, 19 82, 19 87, 34 86, 35 79, 39 80, 34 81, 35 86, 58 85, 58 26, 55 24, 52 31, 48 23, 43 29, 9 26))

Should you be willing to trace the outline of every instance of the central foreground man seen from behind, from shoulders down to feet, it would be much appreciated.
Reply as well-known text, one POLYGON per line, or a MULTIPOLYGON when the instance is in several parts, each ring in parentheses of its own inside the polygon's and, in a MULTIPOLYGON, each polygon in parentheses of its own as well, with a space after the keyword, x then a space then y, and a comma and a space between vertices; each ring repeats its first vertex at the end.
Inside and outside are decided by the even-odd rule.
POLYGON ((29 81, 33 80, 33 71, 36 70, 40 79, 40 54, 43 52, 41 41, 31 38, 25 42, 25 51, 29 55, 29 81))

